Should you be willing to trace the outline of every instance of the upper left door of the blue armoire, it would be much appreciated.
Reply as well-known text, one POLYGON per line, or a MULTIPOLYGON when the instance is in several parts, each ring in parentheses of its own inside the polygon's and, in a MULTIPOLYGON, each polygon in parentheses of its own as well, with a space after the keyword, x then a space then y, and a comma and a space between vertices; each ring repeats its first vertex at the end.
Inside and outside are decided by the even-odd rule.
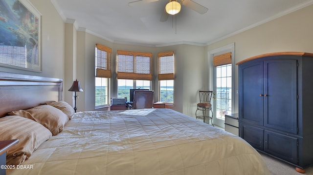
POLYGON ((239 67, 239 120, 264 123, 263 61, 245 63, 239 67))

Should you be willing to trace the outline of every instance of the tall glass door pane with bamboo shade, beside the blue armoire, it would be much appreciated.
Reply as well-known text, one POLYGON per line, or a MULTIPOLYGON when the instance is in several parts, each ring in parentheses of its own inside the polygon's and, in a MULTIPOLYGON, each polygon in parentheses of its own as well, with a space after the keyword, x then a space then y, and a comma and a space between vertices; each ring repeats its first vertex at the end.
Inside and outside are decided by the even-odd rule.
POLYGON ((213 58, 216 67, 215 79, 215 112, 216 118, 225 119, 232 108, 232 64, 231 52, 213 58))

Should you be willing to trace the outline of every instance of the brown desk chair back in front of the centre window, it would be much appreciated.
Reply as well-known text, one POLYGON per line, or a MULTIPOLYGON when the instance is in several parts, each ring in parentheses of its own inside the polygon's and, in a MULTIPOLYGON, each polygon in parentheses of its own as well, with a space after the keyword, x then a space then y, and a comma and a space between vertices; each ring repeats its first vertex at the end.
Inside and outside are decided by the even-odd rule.
POLYGON ((133 109, 153 108, 154 94, 154 91, 134 91, 133 109))

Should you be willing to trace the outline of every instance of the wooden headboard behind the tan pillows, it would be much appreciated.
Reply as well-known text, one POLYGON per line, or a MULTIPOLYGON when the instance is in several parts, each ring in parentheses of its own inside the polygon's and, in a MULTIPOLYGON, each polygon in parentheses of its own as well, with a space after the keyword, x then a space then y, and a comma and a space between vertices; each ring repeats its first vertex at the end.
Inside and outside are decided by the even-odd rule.
POLYGON ((61 101, 62 90, 62 79, 0 72, 0 117, 46 101, 61 101))

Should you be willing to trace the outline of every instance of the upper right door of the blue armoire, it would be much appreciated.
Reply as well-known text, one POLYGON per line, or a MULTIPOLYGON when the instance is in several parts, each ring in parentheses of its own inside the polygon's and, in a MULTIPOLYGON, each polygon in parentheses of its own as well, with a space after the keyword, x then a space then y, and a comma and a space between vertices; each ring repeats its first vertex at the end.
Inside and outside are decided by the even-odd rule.
POLYGON ((264 126, 297 134, 297 60, 265 60, 264 77, 264 126))

